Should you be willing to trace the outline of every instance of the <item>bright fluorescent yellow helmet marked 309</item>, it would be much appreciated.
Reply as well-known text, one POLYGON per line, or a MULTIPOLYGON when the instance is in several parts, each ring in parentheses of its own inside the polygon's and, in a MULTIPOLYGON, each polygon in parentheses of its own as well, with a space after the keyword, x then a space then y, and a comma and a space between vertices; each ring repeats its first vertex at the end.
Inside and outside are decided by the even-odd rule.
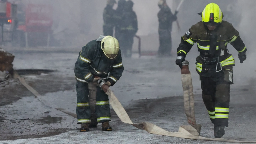
POLYGON ((202 12, 202 21, 205 23, 219 24, 222 22, 223 14, 215 3, 208 4, 202 12))

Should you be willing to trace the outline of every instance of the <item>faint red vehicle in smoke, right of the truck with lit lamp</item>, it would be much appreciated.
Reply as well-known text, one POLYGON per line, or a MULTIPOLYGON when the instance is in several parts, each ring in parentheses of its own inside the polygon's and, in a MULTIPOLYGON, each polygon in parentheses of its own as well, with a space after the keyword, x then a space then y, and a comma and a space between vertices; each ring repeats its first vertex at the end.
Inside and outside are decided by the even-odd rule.
POLYGON ((20 46, 49 46, 53 25, 50 5, 18 5, 18 43, 20 46))

